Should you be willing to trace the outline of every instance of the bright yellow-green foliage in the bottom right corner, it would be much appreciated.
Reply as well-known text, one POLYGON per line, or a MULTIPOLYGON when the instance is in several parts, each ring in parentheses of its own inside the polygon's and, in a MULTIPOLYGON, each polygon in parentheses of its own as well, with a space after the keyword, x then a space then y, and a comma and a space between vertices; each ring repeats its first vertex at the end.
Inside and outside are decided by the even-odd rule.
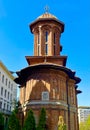
POLYGON ((90 130, 90 116, 85 122, 80 123, 79 130, 90 130))

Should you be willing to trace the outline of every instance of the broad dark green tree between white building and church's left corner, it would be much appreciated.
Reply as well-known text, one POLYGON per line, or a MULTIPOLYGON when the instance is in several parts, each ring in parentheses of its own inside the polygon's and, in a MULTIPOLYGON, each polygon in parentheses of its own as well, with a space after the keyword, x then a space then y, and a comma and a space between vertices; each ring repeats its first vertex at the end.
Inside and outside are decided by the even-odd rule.
POLYGON ((8 130, 20 130, 20 123, 15 111, 12 112, 9 122, 8 122, 8 130))

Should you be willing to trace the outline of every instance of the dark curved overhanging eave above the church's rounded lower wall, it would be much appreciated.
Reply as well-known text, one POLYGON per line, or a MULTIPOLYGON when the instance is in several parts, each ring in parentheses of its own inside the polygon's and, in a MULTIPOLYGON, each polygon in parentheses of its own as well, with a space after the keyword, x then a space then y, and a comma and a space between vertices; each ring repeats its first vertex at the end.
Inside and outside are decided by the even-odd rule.
POLYGON ((22 85, 23 83, 26 82, 27 78, 32 74, 33 71, 39 70, 39 69, 53 69, 53 70, 58 70, 58 71, 63 71, 65 72, 69 78, 75 80, 75 83, 79 83, 81 81, 80 78, 75 76, 75 72, 64 67, 60 66, 57 64, 50 64, 50 63, 45 63, 45 64, 37 64, 37 65, 31 65, 29 67, 26 67, 22 69, 21 71, 17 72, 17 75, 19 76, 18 78, 15 79, 15 82, 22 85))

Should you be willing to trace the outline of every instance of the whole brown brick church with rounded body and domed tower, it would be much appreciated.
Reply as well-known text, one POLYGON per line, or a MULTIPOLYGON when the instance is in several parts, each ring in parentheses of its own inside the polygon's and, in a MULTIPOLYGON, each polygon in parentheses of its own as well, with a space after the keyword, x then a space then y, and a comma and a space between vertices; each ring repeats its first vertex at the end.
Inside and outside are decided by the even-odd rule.
POLYGON ((47 130, 57 130, 61 116, 67 130, 78 130, 77 84, 81 81, 66 67, 67 56, 61 56, 61 33, 64 23, 44 13, 30 24, 34 34, 34 56, 26 56, 28 67, 17 72, 20 84, 19 117, 23 120, 31 108, 36 123, 42 107, 46 109, 47 130))

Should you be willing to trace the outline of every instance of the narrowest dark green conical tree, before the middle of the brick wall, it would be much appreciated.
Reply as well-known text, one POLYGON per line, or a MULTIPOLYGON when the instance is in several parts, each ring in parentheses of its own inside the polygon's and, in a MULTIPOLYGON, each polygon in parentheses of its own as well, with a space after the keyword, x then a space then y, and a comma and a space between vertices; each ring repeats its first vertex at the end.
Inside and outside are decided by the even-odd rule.
POLYGON ((45 130, 45 126, 46 126, 46 110, 45 108, 42 108, 37 130, 45 130))

